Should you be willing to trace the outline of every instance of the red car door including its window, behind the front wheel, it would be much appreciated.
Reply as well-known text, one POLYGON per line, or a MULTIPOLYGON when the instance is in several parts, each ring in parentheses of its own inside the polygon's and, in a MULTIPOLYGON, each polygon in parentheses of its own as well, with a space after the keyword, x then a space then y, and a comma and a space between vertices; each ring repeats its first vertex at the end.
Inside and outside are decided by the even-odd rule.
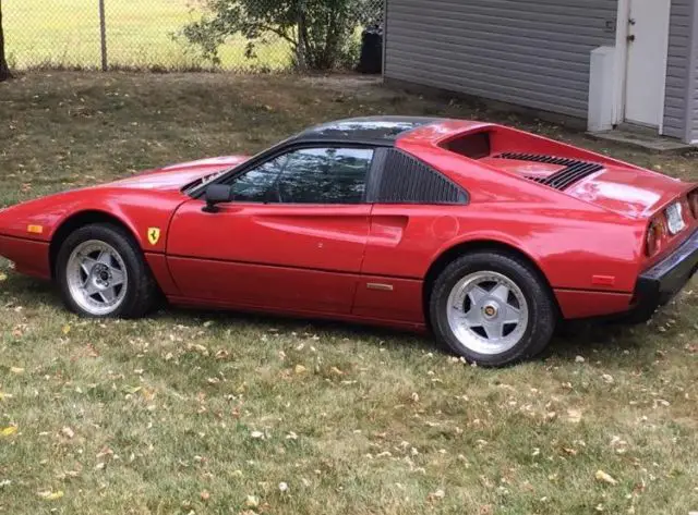
POLYGON ((185 203, 167 254, 182 296, 297 312, 351 310, 370 230, 372 148, 297 148, 231 179, 233 200, 185 203))

